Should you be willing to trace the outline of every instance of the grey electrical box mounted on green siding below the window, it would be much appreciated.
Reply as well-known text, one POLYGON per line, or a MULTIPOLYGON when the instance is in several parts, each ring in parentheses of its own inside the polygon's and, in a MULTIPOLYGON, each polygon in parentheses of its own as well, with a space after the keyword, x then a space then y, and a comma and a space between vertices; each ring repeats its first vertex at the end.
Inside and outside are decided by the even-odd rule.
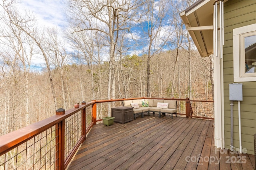
POLYGON ((229 100, 230 101, 243 100, 243 84, 242 83, 229 84, 229 100))

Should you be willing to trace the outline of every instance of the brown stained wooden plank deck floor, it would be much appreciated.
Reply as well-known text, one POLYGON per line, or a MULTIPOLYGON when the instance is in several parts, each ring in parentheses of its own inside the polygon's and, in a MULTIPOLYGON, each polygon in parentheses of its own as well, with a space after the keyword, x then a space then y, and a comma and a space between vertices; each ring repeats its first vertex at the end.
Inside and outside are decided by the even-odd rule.
POLYGON ((253 170, 254 155, 214 147, 213 123, 150 115, 109 127, 94 125, 68 169, 253 170))

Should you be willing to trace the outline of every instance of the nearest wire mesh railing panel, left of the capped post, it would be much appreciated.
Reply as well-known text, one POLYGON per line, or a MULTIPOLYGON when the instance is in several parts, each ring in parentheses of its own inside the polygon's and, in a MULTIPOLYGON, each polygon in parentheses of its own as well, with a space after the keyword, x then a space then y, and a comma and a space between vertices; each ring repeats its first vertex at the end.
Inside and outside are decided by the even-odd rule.
POLYGON ((0 156, 0 170, 55 169, 55 126, 0 156))

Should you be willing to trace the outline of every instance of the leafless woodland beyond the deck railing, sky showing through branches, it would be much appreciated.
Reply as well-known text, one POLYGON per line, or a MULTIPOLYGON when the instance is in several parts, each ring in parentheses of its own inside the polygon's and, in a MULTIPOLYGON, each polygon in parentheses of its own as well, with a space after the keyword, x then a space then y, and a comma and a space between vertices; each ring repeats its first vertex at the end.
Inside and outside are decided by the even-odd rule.
POLYGON ((92 99, 212 100, 213 57, 200 57, 179 16, 193 2, 69 0, 58 30, 3 0, 0 136, 92 99))

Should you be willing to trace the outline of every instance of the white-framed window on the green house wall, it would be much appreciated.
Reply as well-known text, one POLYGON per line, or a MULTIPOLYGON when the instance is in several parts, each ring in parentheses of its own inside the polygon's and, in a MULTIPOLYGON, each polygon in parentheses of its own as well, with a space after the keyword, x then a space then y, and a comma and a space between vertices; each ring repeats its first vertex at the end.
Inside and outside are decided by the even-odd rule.
POLYGON ((234 82, 256 81, 256 24, 233 30, 234 82))

